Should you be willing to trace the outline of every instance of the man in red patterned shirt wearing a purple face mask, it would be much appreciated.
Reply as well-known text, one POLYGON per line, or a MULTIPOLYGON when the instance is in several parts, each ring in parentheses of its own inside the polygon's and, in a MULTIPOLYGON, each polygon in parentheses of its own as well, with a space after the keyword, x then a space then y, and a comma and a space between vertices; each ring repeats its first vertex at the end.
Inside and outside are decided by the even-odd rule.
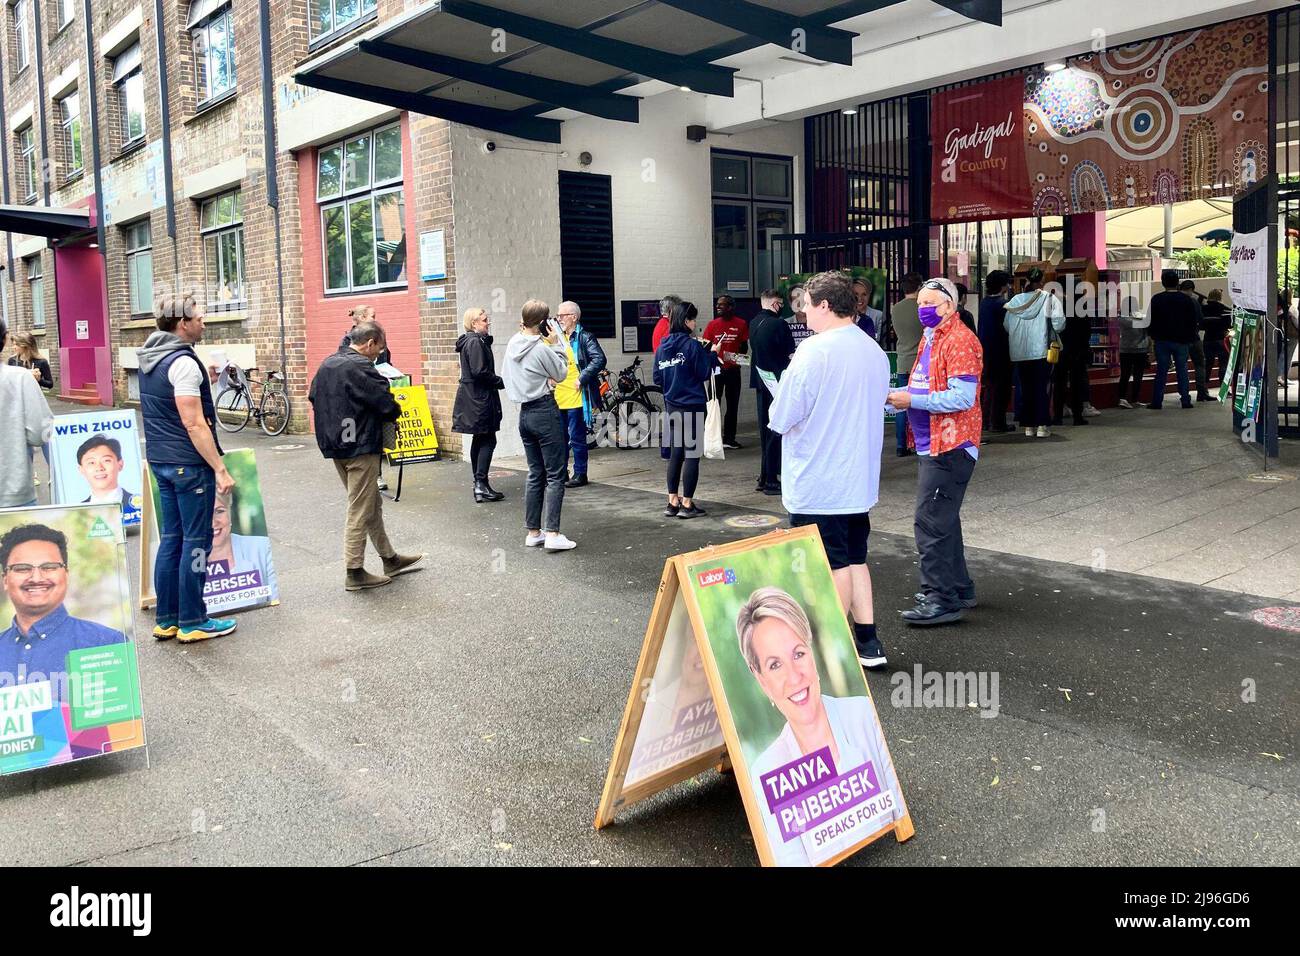
POLYGON ((907 388, 889 393, 889 405, 907 412, 907 445, 916 449, 913 529, 920 591, 916 606, 902 613, 905 622, 916 626, 961 620, 962 611, 975 606, 961 509, 979 459, 984 355, 979 338, 961 320, 961 306, 957 287, 946 278, 932 278, 920 287, 922 349, 907 388))

